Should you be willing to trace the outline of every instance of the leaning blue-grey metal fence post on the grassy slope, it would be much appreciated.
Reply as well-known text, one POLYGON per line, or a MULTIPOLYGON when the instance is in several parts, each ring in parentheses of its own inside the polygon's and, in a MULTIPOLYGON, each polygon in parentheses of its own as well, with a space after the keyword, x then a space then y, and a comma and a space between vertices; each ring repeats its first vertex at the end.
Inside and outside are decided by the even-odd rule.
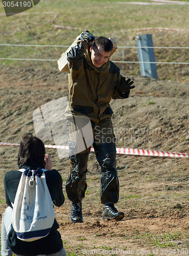
POLYGON ((155 62, 155 54, 153 48, 143 48, 143 47, 153 47, 152 35, 139 35, 136 36, 140 69, 142 76, 150 76, 157 79, 157 69, 156 63, 146 63, 155 62))

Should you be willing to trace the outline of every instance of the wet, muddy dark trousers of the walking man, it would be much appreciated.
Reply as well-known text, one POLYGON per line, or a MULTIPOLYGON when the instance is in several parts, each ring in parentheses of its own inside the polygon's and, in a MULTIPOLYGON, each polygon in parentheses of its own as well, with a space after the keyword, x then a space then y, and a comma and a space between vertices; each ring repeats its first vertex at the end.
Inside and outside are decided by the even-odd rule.
MULTIPOLYGON (((117 203, 119 199, 119 180, 116 169, 116 144, 112 121, 110 118, 99 123, 91 121, 93 148, 96 159, 101 167, 100 197, 101 203, 117 203)), ((91 146, 80 153, 74 154, 74 138, 71 136, 78 126, 68 121, 70 172, 66 182, 66 193, 73 203, 82 202, 87 189, 87 163, 91 146)), ((85 138, 85 135, 82 135, 85 138)))

